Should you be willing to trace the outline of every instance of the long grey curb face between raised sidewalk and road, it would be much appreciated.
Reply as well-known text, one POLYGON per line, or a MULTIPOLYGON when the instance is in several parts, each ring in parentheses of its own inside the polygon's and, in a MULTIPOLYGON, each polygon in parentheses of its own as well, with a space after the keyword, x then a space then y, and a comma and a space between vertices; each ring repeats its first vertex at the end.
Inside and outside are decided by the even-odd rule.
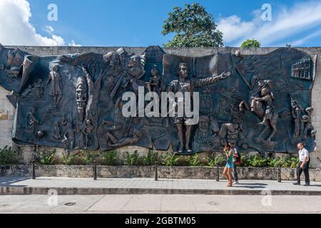
MULTIPOLYGON (((48 195, 56 190, 58 195, 267 195, 267 190, 206 190, 157 188, 72 188, 72 187, 11 187, 2 186, 0 195, 48 195)), ((270 195, 320 195, 320 191, 269 190, 270 195)))

